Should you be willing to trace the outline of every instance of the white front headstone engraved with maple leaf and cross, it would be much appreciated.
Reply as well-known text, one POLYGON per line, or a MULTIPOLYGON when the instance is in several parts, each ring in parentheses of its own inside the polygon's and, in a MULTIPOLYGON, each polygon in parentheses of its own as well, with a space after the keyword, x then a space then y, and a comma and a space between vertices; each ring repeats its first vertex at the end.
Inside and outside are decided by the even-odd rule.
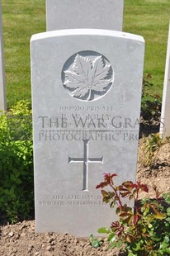
POLYGON ((36 231, 97 234, 113 210, 103 173, 135 182, 141 36, 64 30, 31 38, 36 231))

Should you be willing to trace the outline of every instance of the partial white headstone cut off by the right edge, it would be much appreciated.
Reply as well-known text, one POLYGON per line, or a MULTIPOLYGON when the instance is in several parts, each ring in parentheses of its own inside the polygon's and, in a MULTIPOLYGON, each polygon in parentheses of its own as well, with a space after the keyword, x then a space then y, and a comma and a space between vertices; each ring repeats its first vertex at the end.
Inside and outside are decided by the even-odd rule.
POLYGON ((170 136, 170 26, 168 34, 167 59, 163 84, 163 102, 161 111, 160 135, 170 136))

